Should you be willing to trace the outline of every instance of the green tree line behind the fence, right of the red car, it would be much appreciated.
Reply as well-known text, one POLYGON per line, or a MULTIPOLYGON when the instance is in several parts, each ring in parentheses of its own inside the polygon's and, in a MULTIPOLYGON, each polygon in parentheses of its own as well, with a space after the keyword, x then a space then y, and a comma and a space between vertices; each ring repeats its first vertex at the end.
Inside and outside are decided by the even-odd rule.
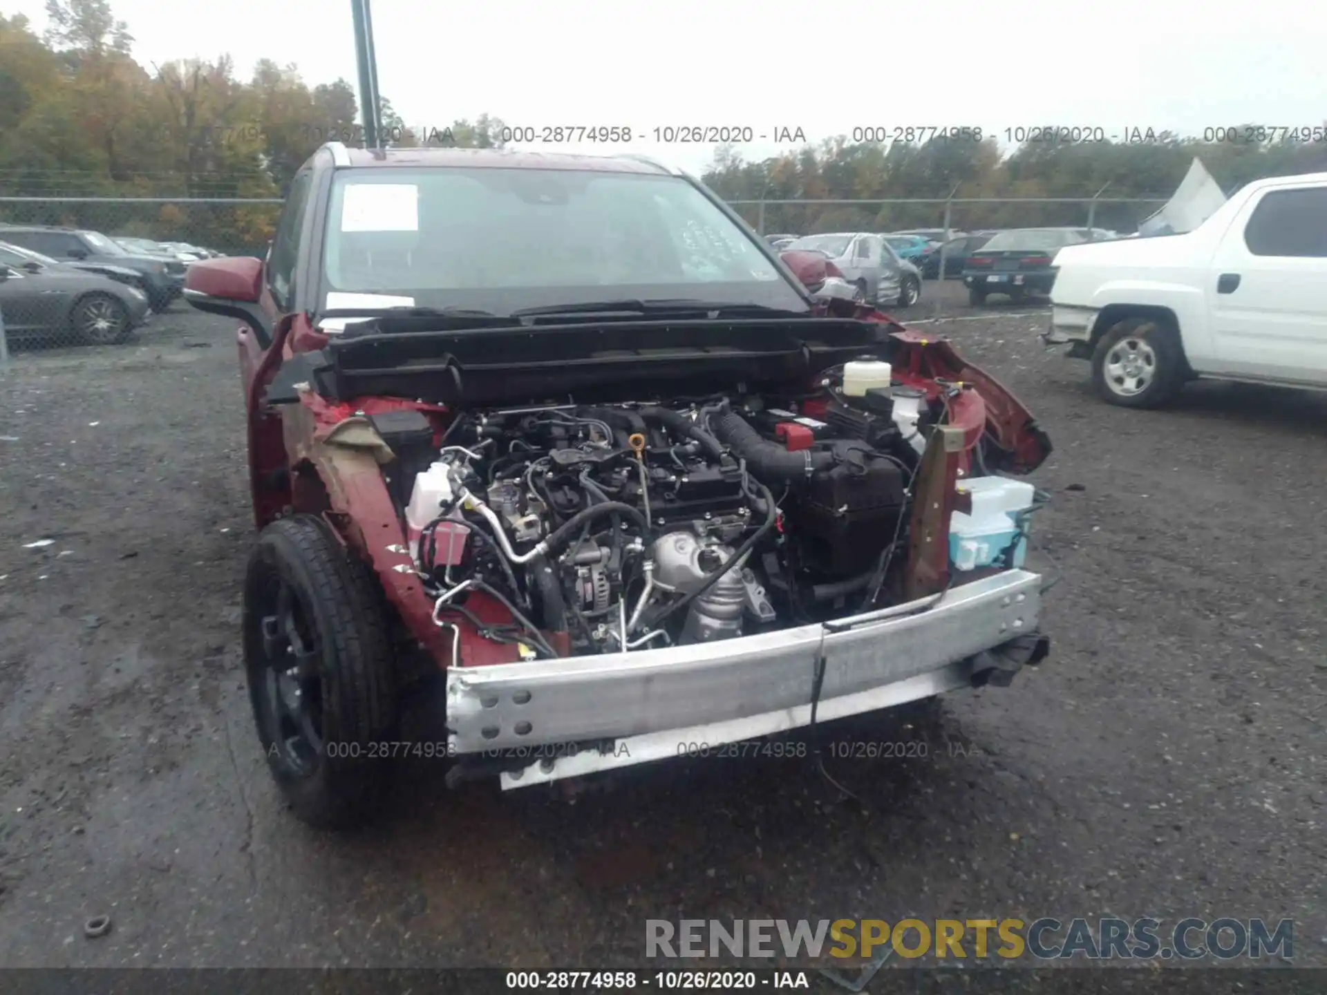
MULTIPOLYGON (((1306 129, 1307 139, 1278 134, 1265 141, 1243 127, 1222 129, 1239 141, 1185 138, 1169 131, 1120 142, 1024 142, 1002 150, 993 138, 924 143, 852 143, 827 139, 796 153, 747 162, 736 149, 721 149, 706 183, 726 200, 889 200, 979 198, 1068 198, 1097 194, 1093 224, 1131 232, 1161 203, 1109 203, 1119 199, 1168 199, 1194 158, 1226 194, 1263 176, 1327 170, 1327 129, 1306 129)), ((755 224, 758 206, 739 211, 755 224)), ((1042 224, 1083 226, 1087 204, 955 203, 954 228, 1003 228, 1042 224)), ((766 204, 764 231, 896 231, 940 227, 943 204, 766 204)))

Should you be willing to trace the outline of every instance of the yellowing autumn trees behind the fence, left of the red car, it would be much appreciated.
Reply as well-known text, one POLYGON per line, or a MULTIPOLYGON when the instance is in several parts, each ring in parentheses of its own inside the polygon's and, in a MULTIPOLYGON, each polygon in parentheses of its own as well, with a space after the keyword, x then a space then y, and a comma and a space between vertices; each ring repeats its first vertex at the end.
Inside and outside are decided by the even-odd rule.
MULTIPOLYGON (((0 196, 280 198, 324 142, 362 137, 354 88, 309 85, 295 65, 260 61, 240 78, 228 56, 141 65, 109 0, 48 0, 38 36, 0 13, 0 196)), ((417 137, 389 101, 397 145, 488 146, 480 117, 417 137)), ((0 203, 0 220, 77 224, 222 251, 265 244, 275 204, 0 203)))

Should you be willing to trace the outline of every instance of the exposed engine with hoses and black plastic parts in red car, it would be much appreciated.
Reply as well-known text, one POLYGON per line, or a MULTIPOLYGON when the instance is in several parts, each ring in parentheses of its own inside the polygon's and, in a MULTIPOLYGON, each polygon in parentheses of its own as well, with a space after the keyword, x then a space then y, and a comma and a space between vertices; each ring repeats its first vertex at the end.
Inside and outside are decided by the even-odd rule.
POLYGON ((434 620, 537 658, 868 608, 928 413, 851 365, 885 386, 458 415, 399 494, 434 620))

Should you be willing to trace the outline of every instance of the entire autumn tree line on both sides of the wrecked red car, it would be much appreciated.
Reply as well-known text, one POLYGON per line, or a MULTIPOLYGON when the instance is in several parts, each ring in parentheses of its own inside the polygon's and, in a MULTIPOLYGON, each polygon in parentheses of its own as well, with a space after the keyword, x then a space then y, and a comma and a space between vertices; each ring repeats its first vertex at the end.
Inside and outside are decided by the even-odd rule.
MULTIPOLYGON (((0 196, 178 198, 176 203, 0 203, 0 220, 81 224, 109 233, 255 251, 275 204, 204 206, 186 199, 276 199, 322 142, 360 137, 353 86, 305 82, 295 65, 260 61, 249 78, 228 56, 142 65, 109 0, 48 0, 38 36, 0 15, 0 196)), ((389 101, 393 145, 500 147, 503 122, 480 115, 414 134, 389 101)), ((1231 129, 1242 138, 1242 131, 1231 129)), ((703 179, 730 200, 892 198, 1165 198, 1194 157, 1227 191, 1251 179, 1327 168, 1322 129, 1311 141, 1204 142, 1170 133, 1123 143, 986 141, 853 143, 836 137, 746 161, 723 147, 703 179)), ((1101 203, 1099 227, 1132 230, 1157 204, 1101 203)), ((740 208, 766 231, 930 227, 937 204, 768 204, 740 208)), ((1082 204, 955 204, 962 227, 1084 224, 1082 204)))

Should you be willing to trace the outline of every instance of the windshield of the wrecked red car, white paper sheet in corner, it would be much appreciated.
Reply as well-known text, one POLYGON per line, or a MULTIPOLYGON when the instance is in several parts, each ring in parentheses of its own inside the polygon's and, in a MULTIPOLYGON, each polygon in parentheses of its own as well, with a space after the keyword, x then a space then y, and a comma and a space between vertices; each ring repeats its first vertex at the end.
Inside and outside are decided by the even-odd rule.
POLYGON ((685 179, 589 170, 341 174, 324 292, 326 309, 510 314, 685 297, 808 310, 756 241, 685 179))

